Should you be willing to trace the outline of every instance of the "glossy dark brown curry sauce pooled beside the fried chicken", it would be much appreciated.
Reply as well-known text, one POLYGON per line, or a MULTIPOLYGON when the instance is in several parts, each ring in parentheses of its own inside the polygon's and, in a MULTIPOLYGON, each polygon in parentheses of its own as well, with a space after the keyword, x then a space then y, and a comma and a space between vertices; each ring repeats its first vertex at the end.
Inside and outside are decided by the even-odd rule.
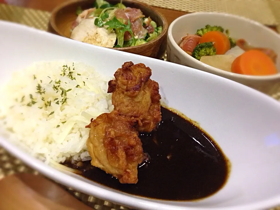
POLYGON ((147 158, 138 167, 137 184, 83 164, 64 163, 82 176, 129 194, 163 200, 190 201, 208 197, 225 184, 229 162, 213 139, 194 123, 161 107, 162 120, 151 133, 140 134, 147 158))

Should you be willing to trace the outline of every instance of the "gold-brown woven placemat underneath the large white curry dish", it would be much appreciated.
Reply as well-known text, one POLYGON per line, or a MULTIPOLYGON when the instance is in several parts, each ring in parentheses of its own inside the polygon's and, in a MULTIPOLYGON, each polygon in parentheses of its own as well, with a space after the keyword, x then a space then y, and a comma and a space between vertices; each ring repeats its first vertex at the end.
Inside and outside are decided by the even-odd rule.
MULTIPOLYGON (((145 0, 145 2, 151 0, 145 0)), ((160 0, 156 0, 160 1, 160 0)), ((176 0, 178 2, 183 2, 180 0, 176 0)), ((187 2, 189 0, 185 0, 187 2)), ((200 1, 200 0, 197 0, 200 1)), ((204 0, 201 0, 201 2, 204 0)), ((211 0, 209 0, 211 1, 211 0)), ((236 0, 235 0, 236 1, 236 0)), ((246 1, 246 0, 242 0, 246 1)), ((259 1, 259 0, 255 0, 259 1)), ((152 1, 151 1, 152 2, 152 1)), ((280 2, 280 0, 279 0, 280 2)), ((149 2, 148 2, 149 3, 149 2)), ((180 5, 180 4, 179 4, 180 5)), ((46 31, 48 19, 50 17, 50 13, 41 10, 34 10, 29 8, 21 8, 17 6, 10 6, 6 4, 0 3, 0 20, 7 20, 11 22, 17 22, 20 24, 25 24, 30 27, 34 27, 37 29, 41 29, 46 31)), ((162 58, 162 60, 167 60, 166 54, 162 58)), ((280 101, 280 84, 275 85, 269 92, 267 92, 270 96, 274 97, 275 99, 280 101)), ((28 167, 26 164, 18 160, 17 158, 10 155, 5 149, 0 147, 0 179, 4 178, 5 176, 12 175, 15 173, 33 173, 38 174, 38 171, 28 167)), ((60 185, 60 184, 59 184, 60 185)), ((129 210, 129 208, 125 206, 120 206, 113 204, 108 201, 104 201, 98 198, 95 198, 90 195, 86 195, 82 192, 78 192, 72 188, 63 186, 65 190, 67 190, 71 195, 82 201, 83 203, 87 204, 88 206, 92 207, 93 209, 97 210, 129 210)), ((273 210, 280 210, 280 207, 276 207, 273 210)))

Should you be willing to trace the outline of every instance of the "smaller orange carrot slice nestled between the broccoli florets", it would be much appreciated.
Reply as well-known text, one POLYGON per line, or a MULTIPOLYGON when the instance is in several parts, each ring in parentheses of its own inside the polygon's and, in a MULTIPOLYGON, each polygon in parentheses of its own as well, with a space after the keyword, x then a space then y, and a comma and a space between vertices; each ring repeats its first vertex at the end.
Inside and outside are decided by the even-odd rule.
POLYGON ((223 55, 230 49, 230 40, 228 37, 220 31, 209 31, 204 34, 199 43, 213 42, 214 48, 216 48, 217 55, 223 55))

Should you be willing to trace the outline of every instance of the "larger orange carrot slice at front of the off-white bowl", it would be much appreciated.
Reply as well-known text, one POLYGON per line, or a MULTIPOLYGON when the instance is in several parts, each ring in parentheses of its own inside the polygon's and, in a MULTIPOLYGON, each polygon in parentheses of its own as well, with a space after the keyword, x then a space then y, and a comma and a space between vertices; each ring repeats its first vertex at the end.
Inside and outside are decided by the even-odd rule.
POLYGON ((237 74, 264 76, 276 74, 274 62, 260 50, 248 50, 235 58, 231 65, 231 71, 237 74))

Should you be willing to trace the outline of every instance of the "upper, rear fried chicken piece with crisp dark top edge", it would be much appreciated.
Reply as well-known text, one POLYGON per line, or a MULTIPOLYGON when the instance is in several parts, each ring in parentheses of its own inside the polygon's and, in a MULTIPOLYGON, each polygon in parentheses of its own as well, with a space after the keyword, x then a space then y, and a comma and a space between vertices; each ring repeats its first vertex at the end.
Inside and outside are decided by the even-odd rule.
POLYGON ((159 85, 151 75, 144 64, 125 62, 108 83, 114 110, 135 120, 139 132, 151 132, 161 120, 159 85))

